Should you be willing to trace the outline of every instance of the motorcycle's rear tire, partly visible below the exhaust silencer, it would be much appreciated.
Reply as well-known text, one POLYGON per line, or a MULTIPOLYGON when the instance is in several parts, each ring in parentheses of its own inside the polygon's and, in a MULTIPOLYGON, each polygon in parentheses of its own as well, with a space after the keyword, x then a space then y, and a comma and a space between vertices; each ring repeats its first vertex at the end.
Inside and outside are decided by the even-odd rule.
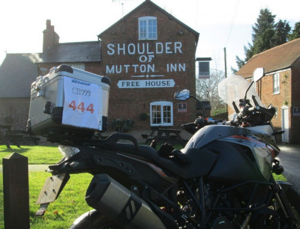
POLYGON ((90 210, 80 215, 69 229, 120 229, 109 218, 105 217, 96 210, 90 210))

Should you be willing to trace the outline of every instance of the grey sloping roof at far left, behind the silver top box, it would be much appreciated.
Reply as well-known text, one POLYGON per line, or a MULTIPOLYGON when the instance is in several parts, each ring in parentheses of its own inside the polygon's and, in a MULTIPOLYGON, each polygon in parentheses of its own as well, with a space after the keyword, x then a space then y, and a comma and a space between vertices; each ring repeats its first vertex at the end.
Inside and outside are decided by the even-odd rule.
POLYGON ((0 66, 0 97, 30 97, 31 83, 38 76, 40 53, 6 54, 0 66))

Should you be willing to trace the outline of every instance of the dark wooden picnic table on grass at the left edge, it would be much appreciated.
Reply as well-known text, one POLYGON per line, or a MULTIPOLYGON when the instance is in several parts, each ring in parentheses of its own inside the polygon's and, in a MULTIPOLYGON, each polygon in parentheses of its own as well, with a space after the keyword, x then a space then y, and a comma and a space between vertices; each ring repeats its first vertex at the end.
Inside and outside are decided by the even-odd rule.
POLYGON ((9 142, 13 142, 17 147, 20 147, 18 141, 22 140, 24 134, 18 133, 14 134, 11 131, 12 124, 1 124, 0 123, 0 140, 10 148, 9 142))

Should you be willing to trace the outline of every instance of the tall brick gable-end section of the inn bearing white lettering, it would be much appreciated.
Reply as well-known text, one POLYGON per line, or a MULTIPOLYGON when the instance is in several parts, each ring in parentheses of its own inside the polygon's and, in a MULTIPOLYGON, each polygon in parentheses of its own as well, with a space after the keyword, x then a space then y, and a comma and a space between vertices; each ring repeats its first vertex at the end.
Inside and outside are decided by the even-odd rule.
MULTIPOLYGON (((111 80, 109 118, 130 118, 136 130, 178 128, 195 118, 195 103, 178 111, 176 90, 195 94, 198 33, 146 0, 99 35, 101 74, 111 80), (142 120, 141 113, 149 113, 142 120)), ((185 102, 184 102, 185 103, 185 102)))

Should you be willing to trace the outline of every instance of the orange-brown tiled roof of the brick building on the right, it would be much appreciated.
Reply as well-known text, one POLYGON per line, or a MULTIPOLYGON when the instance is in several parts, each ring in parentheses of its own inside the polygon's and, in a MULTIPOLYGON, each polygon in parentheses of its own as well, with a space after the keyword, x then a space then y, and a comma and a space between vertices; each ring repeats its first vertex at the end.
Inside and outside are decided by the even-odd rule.
POLYGON ((265 73, 286 69, 300 57, 300 38, 253 55, 236 74, 248 77, 256 67, 263 67, 265 73))

